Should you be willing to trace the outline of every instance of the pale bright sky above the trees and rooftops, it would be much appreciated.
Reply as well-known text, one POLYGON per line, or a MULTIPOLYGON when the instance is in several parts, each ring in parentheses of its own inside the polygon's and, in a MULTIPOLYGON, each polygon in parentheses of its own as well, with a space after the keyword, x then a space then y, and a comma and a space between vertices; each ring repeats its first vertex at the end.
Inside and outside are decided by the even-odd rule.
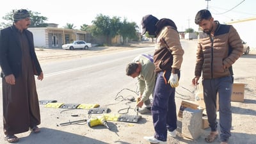
MULTIPOLYGON (((208 8, 214 17, 221 23, 230 20, 246 19, 256 17, 255 0, 211 0, 208 8), (237 6, 237 4, 239 4, 237 6), (236 6, 236 8, 234 8, 236 6), (233 9, 232 9, 233 8, 233 9), (231 10, 232 9, 232 10, 231 10)), ((172 19, 179 31, 188 28, 198 29, 194 19, 196 12, 207 8, 205 0, 72 0, 72 1, 35 1, 35 0, 13 0, 8 6, 0 8, 0 22, 6 13, 13 9, 24 8, 47 17, 47 22, 59 24, 63 28, 67 23, 74 24, 77 29, 83 24, 92 24, 92 20, 100 13, 109 17, 126 18, 129 22, 136 22, 140 26, 143 15, 152 14, 157 18, 172 19)))

